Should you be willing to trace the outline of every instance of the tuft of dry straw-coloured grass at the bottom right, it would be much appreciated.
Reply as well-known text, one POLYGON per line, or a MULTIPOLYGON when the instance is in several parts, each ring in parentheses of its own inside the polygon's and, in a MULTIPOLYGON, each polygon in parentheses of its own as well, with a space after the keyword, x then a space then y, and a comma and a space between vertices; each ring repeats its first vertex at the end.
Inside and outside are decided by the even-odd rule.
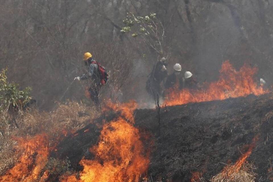
POLYGON ((212 177, 211 182, 254 182, 257 174, 253 164, 244 163, 239 170, 227 165, 218 175, 212 177))

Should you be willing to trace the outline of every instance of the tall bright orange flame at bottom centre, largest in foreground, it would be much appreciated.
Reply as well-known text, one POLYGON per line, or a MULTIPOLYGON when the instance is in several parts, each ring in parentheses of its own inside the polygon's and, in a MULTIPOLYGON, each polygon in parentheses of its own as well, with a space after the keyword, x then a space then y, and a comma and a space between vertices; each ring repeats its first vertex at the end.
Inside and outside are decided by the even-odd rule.
POLYGON ((108 103, 107 106, 119 111, 130 122, 119 117, 106 123, 98 145, 90 148, 90 152, 95 154, 94 160, 82 159, 80 164, 84 169, 80 172, 80 179, 72 175, 62 177, 63 182, 137 182, 140 175, 147 171, 149 156, 144 154, 138 129, 131 124, 134 122, 133 110, 136 103, 108 103))

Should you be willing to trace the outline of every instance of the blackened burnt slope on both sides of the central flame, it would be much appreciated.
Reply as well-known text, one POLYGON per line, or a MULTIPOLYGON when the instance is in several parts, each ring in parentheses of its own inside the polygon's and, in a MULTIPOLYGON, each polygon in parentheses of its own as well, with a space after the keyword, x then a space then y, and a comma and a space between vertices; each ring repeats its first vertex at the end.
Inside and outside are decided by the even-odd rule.
MULTIPOLYGON (((248 149, 247 144, 258 137, 247 159, 257 169, 256 181, 270 181, 268 169, 273 159, 273 96, 250 95, 224 101, 193 103, 161 109, 160 134, 155 109, 135 111, 135 126, 153 137, 149 175, 162 181, 190 181, 192 172, 202 172, 207 181, 219 173, 224 163, 233 162, 248 149)), ((58 146, 52 157, 66 158, 71 167, 81 170, 78 162, 97 143, 102 120, 111 121, 115 113, 96 119, 92 124, 69 136, 58 146), (100 124, 98 124, 100 123, 100 124), (89 129, 88 132, 86 129, 89 129)))

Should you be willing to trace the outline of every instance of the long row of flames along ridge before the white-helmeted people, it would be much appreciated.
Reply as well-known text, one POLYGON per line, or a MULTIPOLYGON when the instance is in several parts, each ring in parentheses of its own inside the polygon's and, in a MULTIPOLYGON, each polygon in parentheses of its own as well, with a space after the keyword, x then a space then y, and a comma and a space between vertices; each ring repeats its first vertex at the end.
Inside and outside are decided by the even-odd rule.
POLYGON ((212 82, 208 87, 200 90, 172 88, 168 90, 165 104, 167 106, 182 105, 192 102, 204 102, 211 100, 224 100, 229 97, 242 97, 249 94, 261 95, 268 91, 254 81, 257 73, 256 67, 244 65, 236 71, 229 61, 225 61, 220 70, 219 80, 212 82))

